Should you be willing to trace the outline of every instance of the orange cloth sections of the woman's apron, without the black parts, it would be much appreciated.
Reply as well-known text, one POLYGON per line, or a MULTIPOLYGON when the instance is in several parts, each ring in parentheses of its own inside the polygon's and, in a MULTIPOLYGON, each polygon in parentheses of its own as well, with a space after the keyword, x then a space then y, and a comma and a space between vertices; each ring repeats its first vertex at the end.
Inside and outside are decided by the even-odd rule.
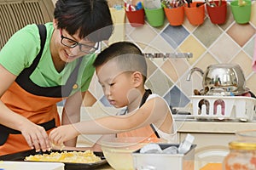
MULTIPOLYGON (((56 108, 56 102, 61 101, 61 98, 49 98, 29 94, 14 82, 9 90, 3 94, 1 100, 10 110, 15 111, 15 113, 21 116, 25 116, 31 122, 40 124, 54 120, 54 127, 60 126, 61 124, 56 108)), ((47 132, 49 133, 49 130, 47 132)), ((0 155, 15 153, 21 150, 31 150, 26 143, 26 139, 21 134, 16 132, 9 133, 9 136, 2 136, 1 133, 2 139, 6 137, 8 139, 0 146, 0 155)))

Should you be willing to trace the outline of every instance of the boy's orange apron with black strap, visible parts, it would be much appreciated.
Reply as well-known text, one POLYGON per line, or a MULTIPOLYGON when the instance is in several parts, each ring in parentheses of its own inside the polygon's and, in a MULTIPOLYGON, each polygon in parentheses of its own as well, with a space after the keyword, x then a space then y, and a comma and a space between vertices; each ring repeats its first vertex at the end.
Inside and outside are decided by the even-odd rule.
MULTIPOLYGON (((146 102, 149 94, 152 94, 152 92, 150 89, 147 89, 146 92, 143 94, 143 99, 140 107, 146 102)), ((156 139, 156 141, 157 139, 160 139, 159 134, 156 132, 152 124, 145 127, 140 127, 125 133, 117 133, 117 138, 122 138, 122 137, 145 137, 146 139, 148 138, 156 139)))

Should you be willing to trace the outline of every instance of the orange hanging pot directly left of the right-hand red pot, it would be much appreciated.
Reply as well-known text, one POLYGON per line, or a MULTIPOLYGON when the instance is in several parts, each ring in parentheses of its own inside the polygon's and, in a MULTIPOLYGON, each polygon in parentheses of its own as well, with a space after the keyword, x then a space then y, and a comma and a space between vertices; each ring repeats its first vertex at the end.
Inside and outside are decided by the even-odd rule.
POLYGON ((201 5, 196 7, 196 3, 200 2, 193 2, 190 3, 190 8, 186 5, 184 7, 186 17, 189 20, 189 23, 193 26, 201 25, 205 20, 205 5, 201 5))

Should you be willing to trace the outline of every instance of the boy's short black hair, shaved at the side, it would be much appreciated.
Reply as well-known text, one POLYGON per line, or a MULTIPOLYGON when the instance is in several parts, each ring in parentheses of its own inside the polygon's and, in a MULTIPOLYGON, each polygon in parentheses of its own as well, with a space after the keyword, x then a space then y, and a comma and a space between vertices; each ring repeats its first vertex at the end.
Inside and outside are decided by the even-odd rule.
POLYGON ((104 65, 109 60, 115 60, 120 71, 140 71, 144 82, 147 77, 147 62, 140 50, 132 42, 114 42, 97 55, 93 65, 104 65))

